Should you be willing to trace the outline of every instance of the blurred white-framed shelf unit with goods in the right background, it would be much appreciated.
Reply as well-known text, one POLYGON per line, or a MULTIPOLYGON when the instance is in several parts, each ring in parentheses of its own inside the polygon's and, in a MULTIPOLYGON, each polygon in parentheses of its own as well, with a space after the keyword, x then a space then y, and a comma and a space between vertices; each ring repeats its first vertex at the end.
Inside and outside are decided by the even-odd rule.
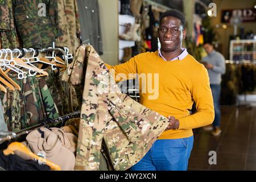
POLYGON ((231 40, 230 41, 230 60, 241 61, 249 60, 256 62, 256 40, 231 40))

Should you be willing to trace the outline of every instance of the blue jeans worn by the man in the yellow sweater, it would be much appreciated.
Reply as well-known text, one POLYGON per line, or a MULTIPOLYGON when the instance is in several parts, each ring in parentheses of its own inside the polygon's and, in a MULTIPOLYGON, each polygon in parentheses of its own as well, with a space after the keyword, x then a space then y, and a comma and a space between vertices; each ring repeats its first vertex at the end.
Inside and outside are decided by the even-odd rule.
POLYGON ((193 147, 193 136, 181 139, 159 139, 131 171, 186 171, 193 147))

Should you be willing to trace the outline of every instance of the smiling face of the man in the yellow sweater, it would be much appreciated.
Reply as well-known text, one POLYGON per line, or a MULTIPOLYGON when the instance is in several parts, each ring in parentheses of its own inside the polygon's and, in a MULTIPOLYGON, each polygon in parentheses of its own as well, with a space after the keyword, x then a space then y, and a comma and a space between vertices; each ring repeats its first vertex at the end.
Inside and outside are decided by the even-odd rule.
POLYGON ((161 48, 165 52, 173 52, 181 48, 182 40, 185 39, 187 30, 183 28, 181 20, 174 16, 162 19, 158 28, 158 37, 161 48))

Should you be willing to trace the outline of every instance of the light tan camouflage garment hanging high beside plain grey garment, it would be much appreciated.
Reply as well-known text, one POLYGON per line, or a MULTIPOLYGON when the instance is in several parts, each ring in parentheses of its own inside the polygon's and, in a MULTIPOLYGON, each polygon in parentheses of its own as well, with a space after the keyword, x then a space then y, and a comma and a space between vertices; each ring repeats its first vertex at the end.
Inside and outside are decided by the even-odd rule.
POLYGON ((73 53, 79 47, 79 39, 76 36, 80 30, 79 13, 77 1, 58 0, 59 27, 63 31, 63 36, 56 39, 57 46, 68 47, 69 52, 73 53))

